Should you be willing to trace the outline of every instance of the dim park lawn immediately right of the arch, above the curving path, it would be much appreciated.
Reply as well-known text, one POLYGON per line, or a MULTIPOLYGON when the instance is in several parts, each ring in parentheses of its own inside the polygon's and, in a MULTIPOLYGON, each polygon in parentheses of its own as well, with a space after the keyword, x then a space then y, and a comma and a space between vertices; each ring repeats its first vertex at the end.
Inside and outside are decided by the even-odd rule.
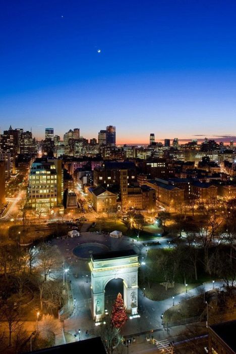
MULTIPOLYGON (((188 284, 188 291, 197 287, 200 284, 188 284)), ((148 284, 145 286, 145 296, 153 301, 161 301, 168 298, 172 298, 172 296, 176 296, 186 292, 186 286, 181 283, 174 283, 173 288, 169 288, 165 290, 163 285, 158 283, 150 282, 150 289, 148 284)))

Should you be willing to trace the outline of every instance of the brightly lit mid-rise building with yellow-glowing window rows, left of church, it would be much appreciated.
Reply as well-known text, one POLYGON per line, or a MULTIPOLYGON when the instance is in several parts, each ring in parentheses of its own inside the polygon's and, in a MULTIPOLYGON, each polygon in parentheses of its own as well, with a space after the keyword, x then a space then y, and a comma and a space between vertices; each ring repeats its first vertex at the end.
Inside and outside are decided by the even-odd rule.
POLYGON ((63 203, 62 160, 36 158, 32 163, 27 190, 27 205, 50 209, 63 203))

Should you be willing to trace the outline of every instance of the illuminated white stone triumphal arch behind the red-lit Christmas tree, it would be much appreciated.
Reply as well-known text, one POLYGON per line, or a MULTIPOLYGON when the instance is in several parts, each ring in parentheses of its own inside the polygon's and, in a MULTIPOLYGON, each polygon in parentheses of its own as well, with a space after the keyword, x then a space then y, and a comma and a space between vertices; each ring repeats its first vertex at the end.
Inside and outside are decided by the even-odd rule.
POLYGON ((132 250, 114 251, 91 255, 91 294, 93 319, 101 321, 105 316, 105 286, 116 278, 123 279, 124 304, 132 315, 138 310, 138 255, 132 250))

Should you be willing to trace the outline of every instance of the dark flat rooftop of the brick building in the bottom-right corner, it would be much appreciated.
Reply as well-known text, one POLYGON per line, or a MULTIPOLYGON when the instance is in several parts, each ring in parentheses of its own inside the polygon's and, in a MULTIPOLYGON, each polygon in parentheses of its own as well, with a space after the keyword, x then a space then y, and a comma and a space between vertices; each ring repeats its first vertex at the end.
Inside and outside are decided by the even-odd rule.
POLYGON ((234 352, 236 352, 236 321, 228 321, 219 323, 217 325, 211 325, 209 328, 217 334, 234 352))

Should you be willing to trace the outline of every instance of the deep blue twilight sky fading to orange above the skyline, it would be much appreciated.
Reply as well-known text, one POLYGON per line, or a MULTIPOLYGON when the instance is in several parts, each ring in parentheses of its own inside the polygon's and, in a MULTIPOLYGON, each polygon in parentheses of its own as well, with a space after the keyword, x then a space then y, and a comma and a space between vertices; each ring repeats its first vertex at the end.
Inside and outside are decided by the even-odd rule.
POLYGON ((235 0, 5 0, 0 39, 2 130, 236 135, 235 0))

